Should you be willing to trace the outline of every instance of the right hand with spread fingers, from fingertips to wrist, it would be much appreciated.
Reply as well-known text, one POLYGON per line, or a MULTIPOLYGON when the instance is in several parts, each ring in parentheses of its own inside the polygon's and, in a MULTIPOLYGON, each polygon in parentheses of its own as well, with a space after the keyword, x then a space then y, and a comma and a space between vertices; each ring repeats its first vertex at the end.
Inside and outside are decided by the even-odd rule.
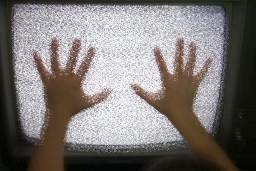
POLYGON ((154 56, 160 70, 163 84, 162 90, 157 93, 145 91, 139 85, 133 84, 132 88, 142 99, 157 109, 159 112, 173 118, 172 113, 182 109, 191 109, 199 84, 204 79, 211 65, 212 59, 205 61, 201 70, 193 75, 196 62, 196 44, 190 43, 189 56, 184 66, 184 39, 179 38, 176 44, 174 73, 170 74, 159 47, 154 48, 154 56))

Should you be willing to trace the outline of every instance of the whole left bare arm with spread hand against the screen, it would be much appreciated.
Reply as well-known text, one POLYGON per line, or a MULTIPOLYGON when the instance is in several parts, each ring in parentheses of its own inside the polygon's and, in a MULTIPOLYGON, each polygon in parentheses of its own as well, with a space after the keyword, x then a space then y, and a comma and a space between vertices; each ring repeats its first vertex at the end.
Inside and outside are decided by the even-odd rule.
POLYGON ((34 53, 37 69, 45 86, 45 101, 48 126, 42 143, 36 147, 28 171, 63 171, 63 140, 69 119, 108 96, 109 91, 89 96, 81 88, 81 81, 90 66, 94 49, 89 48, 77 73, 74 73, 81 41, 75 39, 66 68, 62 69, 58 60, 58 42, 51 41, 51 73, 42 64, 41 57, 34 53))

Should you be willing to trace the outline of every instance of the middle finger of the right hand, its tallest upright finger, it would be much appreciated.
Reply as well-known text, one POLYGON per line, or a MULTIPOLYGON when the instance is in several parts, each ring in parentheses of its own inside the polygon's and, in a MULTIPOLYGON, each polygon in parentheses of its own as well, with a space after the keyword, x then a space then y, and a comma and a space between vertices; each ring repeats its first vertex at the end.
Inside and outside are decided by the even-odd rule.
POLYGON ((180 77, 183 75, 183 53, 184 53, 184 39, 179 38, 176 44, 175 63, 174 63, 174 71, 175 71, 176 77, 180 77))

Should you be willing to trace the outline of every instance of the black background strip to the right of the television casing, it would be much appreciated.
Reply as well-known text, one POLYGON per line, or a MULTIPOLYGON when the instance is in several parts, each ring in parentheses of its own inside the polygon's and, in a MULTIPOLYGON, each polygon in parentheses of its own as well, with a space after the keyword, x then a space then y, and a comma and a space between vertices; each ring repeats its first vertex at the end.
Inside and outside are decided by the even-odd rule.
POLYGON ((249 0, 228 155, 243 170, 256 170, 256 1, 249 0))

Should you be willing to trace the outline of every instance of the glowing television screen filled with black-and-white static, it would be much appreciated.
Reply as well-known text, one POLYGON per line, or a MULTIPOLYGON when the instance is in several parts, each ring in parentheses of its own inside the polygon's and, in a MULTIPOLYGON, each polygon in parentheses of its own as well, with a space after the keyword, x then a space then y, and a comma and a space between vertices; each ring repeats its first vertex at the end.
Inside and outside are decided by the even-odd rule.
POLYGON ((93 95, 112 89, 106 100, 72 117, 65 138, 69 150, 151 152, 186 147, 171 122, 131 88, 131 84, 138 84, 151 92, 161 89, 154 47, 160 48, 169 73, 173 73, 178 38, 184 38, 184 63, 190 42, 197 46, 194 74, 208 58, 213 59, 193 109, 214 135, 223 97, 225 24, 222 6, 14 4, 13 69, 17 117, 24 139, 37 143, 40 138, 46 108, 33 52, 41 55, 51 72, 51 38, 59 41, 62 67, 75 38, 81 39, 76 69, 88 47, 94 47, 95 57, 84 77, 83 90, 93 95))

